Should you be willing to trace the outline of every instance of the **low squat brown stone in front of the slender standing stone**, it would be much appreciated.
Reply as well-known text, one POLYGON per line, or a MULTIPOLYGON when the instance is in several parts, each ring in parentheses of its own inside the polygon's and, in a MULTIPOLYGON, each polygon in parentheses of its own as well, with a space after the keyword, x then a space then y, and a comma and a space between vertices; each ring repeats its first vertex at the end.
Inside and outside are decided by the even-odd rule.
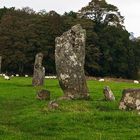
POLYGON ((44 89, 37 91, 37 99, 50 100, 50 91, 44 89))

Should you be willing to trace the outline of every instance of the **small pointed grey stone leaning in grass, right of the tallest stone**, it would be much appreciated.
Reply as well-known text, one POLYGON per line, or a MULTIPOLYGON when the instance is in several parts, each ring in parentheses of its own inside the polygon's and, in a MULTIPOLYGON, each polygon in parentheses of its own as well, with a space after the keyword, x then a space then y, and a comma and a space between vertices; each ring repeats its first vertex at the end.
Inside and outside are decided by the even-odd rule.
POLYGON ((114 101, 115 100, 115 96, 113 94, 113 92, 111 91, 109 86, 106 86, 103 90, 104 96, 105 96, 105 100, 106 101, 114 101))

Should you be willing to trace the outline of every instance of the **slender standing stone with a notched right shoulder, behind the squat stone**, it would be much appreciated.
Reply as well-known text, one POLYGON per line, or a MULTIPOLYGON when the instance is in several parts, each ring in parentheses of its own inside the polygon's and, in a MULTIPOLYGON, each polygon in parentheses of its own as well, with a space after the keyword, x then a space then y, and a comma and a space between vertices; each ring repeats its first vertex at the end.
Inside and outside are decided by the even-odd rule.
POLYGON ((43 86, 45 78, 45 68, 42 66, 43 54, 38 53, 35 57, 33 86, 43 86))

